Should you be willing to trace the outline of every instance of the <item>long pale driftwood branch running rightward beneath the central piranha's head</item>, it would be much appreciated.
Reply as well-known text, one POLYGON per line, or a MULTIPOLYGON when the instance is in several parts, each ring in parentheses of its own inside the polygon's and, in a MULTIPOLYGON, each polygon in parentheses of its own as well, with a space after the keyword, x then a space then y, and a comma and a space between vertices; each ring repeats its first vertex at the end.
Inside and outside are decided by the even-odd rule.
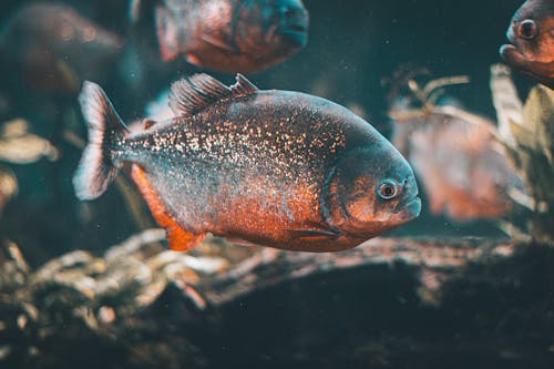
POLYGON ((393 238, 377 237, 339 254, 284 253, 260 248, 232 265, 225 273, 201 279, 196 286, 214 307, 245 295, 308 276, 369 266, 404 265, 418 270, 418 295, 425 304, 438 305, 442 286, 458 273, 483 258, 509 258, 513 244, 484 238, 393 238))

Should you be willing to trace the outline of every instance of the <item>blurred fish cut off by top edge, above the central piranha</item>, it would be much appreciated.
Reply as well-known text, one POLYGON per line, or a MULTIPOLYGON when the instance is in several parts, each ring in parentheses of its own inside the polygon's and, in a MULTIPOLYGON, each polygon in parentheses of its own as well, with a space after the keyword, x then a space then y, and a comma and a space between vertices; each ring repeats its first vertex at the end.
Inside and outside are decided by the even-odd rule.
MULTIPOLYGON (((146 17, 147 2, 133 1, 135 22, 146 17)), ((184 57, 214 71, 250 73, 284 61, 308 41, 301 0, 160 0, 153 8, 164 61, 184 57)))

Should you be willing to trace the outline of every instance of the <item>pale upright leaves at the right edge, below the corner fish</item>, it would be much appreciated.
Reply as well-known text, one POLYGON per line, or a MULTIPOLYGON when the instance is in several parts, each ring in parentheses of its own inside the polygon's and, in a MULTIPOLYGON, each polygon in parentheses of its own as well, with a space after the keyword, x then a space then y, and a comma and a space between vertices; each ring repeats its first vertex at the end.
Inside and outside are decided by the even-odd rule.
POLYGON ((527 230, 534 238, 553 240, 554 91, 538 84, 522 106, 510 70, 501 64, 491 66, 491 90, 497 102, 499 126, 504 127, 499 130, 499 141, 531 196, 521 203, 535 213, 527 230))

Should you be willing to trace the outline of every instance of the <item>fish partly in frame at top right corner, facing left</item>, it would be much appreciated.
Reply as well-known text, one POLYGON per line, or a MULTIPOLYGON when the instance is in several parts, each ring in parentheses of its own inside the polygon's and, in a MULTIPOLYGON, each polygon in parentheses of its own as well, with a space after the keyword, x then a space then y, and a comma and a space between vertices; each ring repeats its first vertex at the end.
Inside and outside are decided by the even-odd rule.
POLYGON ((554 1, 525 1, 514 13, 506 35, 512 44, 501 47, 502 59, 554 89, 554 1))

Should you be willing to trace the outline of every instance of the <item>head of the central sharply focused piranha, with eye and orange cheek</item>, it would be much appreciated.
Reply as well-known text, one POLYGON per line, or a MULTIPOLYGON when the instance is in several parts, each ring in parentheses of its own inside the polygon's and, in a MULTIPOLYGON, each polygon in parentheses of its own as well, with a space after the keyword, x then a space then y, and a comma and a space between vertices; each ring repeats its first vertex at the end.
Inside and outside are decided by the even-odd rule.
POLYGON ((377 150, 345 153, 328 177, 322 201, 329 225, 356 237, 377 236, 421 212, 413 171, 388 142, 377 150))

